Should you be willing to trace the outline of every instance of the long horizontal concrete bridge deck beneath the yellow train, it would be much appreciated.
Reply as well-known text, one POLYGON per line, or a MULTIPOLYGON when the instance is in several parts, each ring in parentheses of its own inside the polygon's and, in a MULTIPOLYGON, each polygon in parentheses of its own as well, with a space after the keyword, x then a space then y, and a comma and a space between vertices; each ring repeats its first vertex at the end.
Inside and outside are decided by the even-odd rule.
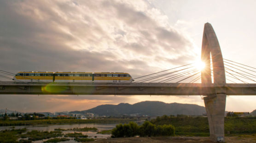
POLYGON ((70 95, 212 95, 224 88, 227 95, 256 95, 256 84, 227 83, 216 87, 201 83, 52 83, 0 82, 0 94, 70 95))

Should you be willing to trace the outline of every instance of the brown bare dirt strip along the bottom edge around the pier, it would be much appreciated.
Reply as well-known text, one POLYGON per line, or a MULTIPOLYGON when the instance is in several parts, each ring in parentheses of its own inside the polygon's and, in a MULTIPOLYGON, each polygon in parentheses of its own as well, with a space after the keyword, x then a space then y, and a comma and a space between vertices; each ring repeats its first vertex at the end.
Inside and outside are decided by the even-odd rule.
MULTIPOLYGON (((255 136, 225 137, 226 143, 256 143, 255 136)), ((213 143, 209 137, 121 137, 99 139, 92 143, 213 143)))

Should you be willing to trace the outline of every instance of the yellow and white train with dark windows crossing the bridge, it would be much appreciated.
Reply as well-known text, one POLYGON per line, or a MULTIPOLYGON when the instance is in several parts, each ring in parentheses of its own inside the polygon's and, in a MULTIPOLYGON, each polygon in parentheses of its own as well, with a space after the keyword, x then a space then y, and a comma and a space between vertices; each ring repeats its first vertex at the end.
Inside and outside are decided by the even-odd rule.
POLYGON ((20 71, 14 78, 16 82, 132 82, 133 78, 124 72, 47 72, 20 71))

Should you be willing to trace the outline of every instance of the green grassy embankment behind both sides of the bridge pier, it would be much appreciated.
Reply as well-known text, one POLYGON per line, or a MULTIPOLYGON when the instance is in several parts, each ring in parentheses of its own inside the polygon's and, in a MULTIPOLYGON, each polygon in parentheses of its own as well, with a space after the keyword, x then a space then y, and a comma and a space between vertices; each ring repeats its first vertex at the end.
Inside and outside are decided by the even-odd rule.
MULTIPOLYGON (((170 117, 162 116, 151 120, 155 125, 171 124, 175 126, 176 135, 209 136, 207 117, 170 117)), ((225 117, 226 136, 256 133, 256 117, 225 117)))

